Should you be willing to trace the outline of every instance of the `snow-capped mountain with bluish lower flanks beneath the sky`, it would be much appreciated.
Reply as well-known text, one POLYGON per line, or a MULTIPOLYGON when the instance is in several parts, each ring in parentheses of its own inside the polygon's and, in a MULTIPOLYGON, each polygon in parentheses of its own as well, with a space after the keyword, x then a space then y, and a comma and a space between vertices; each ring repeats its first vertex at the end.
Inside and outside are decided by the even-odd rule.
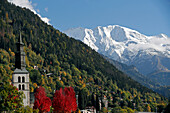
POLYGON ((146 36, 119 25, 72 28, 64 33, 113 60, 135 65, 142 74, 170 70, 170 38, 165 34, 146 36))

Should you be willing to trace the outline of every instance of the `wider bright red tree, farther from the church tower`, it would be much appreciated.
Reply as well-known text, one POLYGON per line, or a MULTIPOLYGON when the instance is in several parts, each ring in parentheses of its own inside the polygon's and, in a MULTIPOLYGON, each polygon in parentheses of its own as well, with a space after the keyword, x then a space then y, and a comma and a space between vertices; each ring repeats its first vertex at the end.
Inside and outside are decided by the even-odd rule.
POLYGON ((77 110, 75 92, 72 87, 60 88, 54 94, 52 106, 54 113, 71 113, 77 110))

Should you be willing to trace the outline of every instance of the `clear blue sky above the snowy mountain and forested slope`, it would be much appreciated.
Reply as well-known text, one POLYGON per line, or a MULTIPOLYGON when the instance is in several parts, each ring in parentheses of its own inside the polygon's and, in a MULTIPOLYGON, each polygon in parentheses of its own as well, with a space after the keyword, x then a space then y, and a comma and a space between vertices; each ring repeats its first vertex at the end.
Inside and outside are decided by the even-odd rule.
POLYGON ((170 37, 170 0, 31 0, 60 31, 121 25, 145 35, 170 37))

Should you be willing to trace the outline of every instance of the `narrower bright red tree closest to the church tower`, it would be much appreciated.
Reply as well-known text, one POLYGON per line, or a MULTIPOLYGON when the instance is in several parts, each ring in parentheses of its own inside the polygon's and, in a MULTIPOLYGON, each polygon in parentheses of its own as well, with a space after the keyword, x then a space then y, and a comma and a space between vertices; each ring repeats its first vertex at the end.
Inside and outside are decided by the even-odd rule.
POLYGON ((39 109, 39 113, 49 112, 51 100, 49 97, 46 96, 45 89, 40 86, 36 89, 34 96, 35 102, 33 109, 39 109))

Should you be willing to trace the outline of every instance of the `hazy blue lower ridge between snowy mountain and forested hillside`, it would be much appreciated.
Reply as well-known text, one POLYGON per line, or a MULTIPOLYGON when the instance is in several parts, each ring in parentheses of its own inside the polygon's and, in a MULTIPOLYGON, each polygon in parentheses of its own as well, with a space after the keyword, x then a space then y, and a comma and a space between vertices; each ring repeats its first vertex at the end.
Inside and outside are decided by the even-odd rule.
POLYGON ((110 63, 112 63, 115 67, 117 67, 119 70, 127 74, 129 77, 131 77, 133 80, 139 82, 140 84, 148 87, 149 89, 152 89, 159 94, 170 97, 170 88, 169 86, 163 86, 165 84, 169 85, 169 77, 167 72, 155 72, 150 74, 150 76, 146 77, 139 73, 139 71, 134 66, 128 66, 126 64, 120 63, 118 61, 109 59, 107 57, 104 57, 107 59, 110 63), (154 77, 157 76, 157 77, 154 77), (159 79, 155 79, 159 78, 159 79), (158 81, 158 82, 157 82, 158 81), (165 83, 166 81, 166 83, 165 83), (161 83, 161 84, 160 84, 161 83))

